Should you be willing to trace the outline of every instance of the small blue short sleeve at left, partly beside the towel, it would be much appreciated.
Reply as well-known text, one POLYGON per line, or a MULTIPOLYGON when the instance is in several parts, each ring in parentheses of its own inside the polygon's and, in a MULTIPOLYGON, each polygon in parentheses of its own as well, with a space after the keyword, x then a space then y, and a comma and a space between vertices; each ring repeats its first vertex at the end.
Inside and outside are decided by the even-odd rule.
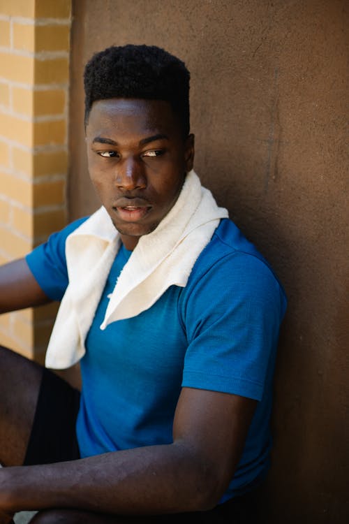
POLYGON ((86 220, 78 219, 57 233, 52 233, 47 242, 36 247, 26 256, 29 269, 46 295, 52 300, 61 300, 68 286, 66 267, 66 238, 86 220))

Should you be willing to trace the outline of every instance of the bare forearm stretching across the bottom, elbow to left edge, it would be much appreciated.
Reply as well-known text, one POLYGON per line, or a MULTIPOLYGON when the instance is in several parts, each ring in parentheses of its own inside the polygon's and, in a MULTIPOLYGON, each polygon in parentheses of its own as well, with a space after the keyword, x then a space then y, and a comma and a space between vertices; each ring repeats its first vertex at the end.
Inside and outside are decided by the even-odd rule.
POLYGON ((0 509, 75 507, 165 514, 216 504, 214 476, 186 446, 149 446, 53 465, 0 471, 0 509))

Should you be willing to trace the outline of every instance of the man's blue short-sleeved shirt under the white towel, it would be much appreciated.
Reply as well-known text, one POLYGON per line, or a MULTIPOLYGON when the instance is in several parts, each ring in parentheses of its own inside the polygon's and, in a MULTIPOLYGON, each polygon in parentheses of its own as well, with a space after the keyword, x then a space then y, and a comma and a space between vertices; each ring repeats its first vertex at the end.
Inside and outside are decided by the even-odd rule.
MULTIPOLYGON (((68 285, 65 243, 83 219, 27 256, 47 296, 68 285)), ((269 264, 229 219, 221 220, 185 288, 170 286, 148 310, 101 330, 108 296, 131 252, 121 246, 81 361, 77 439, 82 457, 172 442, 181 387, 258 400, 242 458, 221 502, 269 467, 272 386, 285 293, 269 264)))

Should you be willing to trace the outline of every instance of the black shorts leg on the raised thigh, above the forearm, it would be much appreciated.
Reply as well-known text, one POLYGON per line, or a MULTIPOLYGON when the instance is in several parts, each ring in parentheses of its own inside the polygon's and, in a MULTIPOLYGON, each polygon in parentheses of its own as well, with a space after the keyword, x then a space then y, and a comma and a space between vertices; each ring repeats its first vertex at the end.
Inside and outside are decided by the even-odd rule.
POLYGON ((75 432, 80 391, 44 368, 24 465, 80 458, 75 432))

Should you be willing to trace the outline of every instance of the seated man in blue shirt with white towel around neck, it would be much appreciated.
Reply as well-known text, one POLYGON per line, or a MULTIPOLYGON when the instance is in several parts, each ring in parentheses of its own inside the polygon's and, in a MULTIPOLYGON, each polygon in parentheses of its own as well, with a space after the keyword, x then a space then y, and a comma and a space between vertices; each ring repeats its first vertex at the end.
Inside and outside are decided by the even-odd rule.
POLYGON ((108 48, 84 87, 102 208, 0 271, 1 312, 61 300, 46 366, 82 391, 1 349, 3 522, 246 522, 283 290, 193 171, 183 62, 108 48))

